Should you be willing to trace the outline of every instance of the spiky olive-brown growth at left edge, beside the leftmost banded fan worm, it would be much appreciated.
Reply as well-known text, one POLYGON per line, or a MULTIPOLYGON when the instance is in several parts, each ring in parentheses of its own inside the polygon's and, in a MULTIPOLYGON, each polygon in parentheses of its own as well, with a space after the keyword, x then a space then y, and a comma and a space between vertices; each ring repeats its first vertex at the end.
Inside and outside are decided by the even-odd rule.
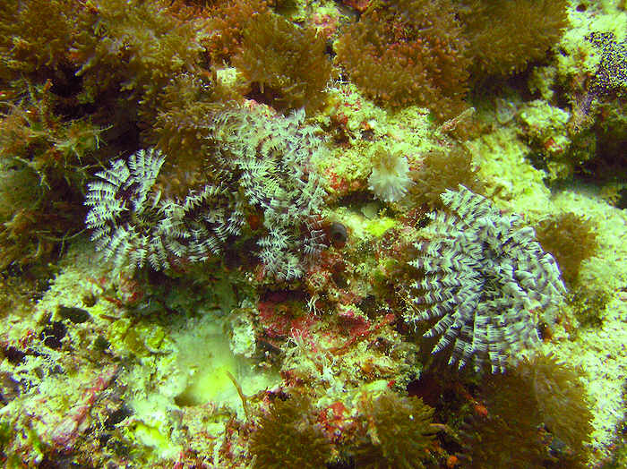
POLYGON ((95 161, 100 130, 87 120, 64 122, 50 100, 47 87, 31 89, 0 113, 2 269, 46 259, 82 229, 83 165, 95 161))

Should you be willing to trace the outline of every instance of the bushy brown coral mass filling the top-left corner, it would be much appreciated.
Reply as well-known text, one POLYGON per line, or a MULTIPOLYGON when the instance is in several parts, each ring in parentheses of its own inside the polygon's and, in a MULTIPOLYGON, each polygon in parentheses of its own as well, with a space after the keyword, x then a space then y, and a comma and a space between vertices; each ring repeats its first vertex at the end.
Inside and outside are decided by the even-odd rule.
POLYGON ((182 72, 205 72, 200 38, 206 21, 197 10, 166 0, 3 2, 0 62, 7 66, 0 79, 12 98, 49 82, 54 113, 90 115, 112 129, 109 144, 124 139, 132 151, 139 128, 152 124, 168 81, 182 72))

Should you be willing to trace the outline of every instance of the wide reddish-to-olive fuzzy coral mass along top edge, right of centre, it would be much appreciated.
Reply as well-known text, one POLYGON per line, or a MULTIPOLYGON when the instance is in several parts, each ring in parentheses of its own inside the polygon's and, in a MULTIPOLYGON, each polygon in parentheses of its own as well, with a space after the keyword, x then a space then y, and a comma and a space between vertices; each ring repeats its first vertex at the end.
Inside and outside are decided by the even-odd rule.
POLYGON ((446 119, 464 110, 471 77, 520 72, 559 40, 566 18, 565 0, 371 4, 339 38, 337 60, 367 96, 446 119))

